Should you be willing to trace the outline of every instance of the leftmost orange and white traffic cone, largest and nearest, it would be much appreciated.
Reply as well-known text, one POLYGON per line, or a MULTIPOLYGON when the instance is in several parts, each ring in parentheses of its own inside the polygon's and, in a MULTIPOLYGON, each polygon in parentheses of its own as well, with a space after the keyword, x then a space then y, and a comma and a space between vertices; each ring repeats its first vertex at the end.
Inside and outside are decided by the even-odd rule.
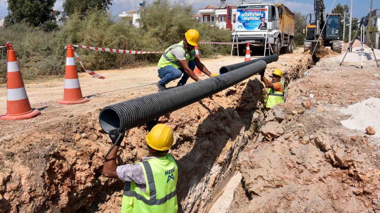
POLYGON ((40 114, 40 111, 32 110, 30 107, 16 54, 14 54, 12 45, 7 43, 6 46, 8 47, 6 114, 1 115, 0 119, 20 120, 35 117, 40 114))

